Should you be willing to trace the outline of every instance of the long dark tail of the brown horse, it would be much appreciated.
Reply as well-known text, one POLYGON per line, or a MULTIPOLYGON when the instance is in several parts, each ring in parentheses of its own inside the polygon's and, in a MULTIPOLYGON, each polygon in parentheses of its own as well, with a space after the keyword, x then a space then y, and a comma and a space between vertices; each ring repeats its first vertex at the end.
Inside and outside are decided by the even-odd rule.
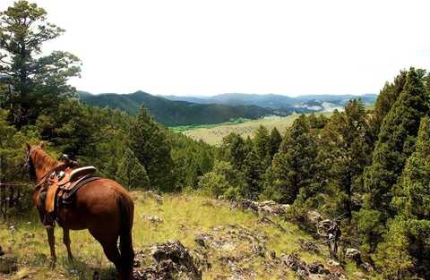
POLYGON ((119 235, 119 250, 121 251, 121 272, 124 273, 126 278, 132 279, 133 272, 133 215, 134 215, 134 204, 133 200, 126 195, 121 193, 118 199, 118 206, 121 212, 121 227, 119 235))

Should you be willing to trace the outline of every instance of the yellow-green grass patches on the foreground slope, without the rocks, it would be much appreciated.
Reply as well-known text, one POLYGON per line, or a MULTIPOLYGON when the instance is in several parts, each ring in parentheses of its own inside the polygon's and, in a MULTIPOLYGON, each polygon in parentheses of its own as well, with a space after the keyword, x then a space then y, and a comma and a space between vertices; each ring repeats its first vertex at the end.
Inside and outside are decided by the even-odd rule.
MULTIPOLYGON (((167 195, 162 204, 150 199, 147 194, 139 191, 132 192, 135 201, 135 215, 133 225, 134 250, 148 248, 155 242, 166 242, 178 239, 190 250, 197 250, 199 245, 194 237, 199 233, 211 233, 211 230, 222 225, 238 225, 249 231, 261 233, 266 237, 267 250, 275 251, 276 256, 282 253, 298 252, 306 261, 319 260, 325 263, 328 253, 323 248, 321 254, 301 251, 298 239, 311 239, 307 233, 301 231, 297 225, 271 217, 280 224, 285 232, 272 225, 259 225, 259 217, 250 211, 230 209, 227 202, 217 202, 216 206, 205 206, 207 198, 197 194, 167 195), (163 219, 163 223, 153 224, 145 215, 155 215, 163 219)), ((39 217, 33 210, 30 215, 13 218, 16 231, 11 232, 9 226, 0 225, 0 243, 4 250, 12 252, 19 258, 19 271, 5 279, 22 279, 31 276, 32 279, 92 279, 94 270, 100 271, 101 279, 111 279, 115 270, 108 262, 96 242, 87 231, 71 232, 72 250, 76 261, 72 264, 67 259, 67 253, 62 243, 62 231, 56 228, 56 252, 58 263, 54 270, 47 267, 49 248, 45 230, 39 223, 39 217), (32 235, 34 233, 34 236, 32 235)), ((219 256, 235 257, 245 254, 246 242, 239 243, 233 251, 211 252, 209 259, 211 269, 203 272, 203 279, 228 276, 229 269, 225 263, 219 261, 219 256)), ((249 252, 247 252, 249 254, 249 252)), ((268 279, 264 270, 267 259, 255 258, 242 264, 243 268, 250 268, 256 273, 257 279, 268 279)), ((284 268, 285 269, 285 268, 284 268)), ((352 273, 353 267, 348 267, 352 273)), ((273 268, 271 278, 285 276, 295 279, 292 272, 273 268)), ((1 276, 0 276, 1 278, 1 276)))

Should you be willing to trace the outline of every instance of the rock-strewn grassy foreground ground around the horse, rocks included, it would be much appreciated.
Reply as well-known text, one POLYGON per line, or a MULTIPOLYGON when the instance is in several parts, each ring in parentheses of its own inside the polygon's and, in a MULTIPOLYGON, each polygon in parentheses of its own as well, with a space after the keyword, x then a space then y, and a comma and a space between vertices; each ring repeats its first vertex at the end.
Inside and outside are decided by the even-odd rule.
MULTIPOLYGON (((193 195, 168 198, 153 193, 133 195, 137 206, 133 231, 136 280, 370 279, 370 274, 360 267, 359 251, 348 249, 348 259, 344 261, 330 259, 322 241, 314 240, 285 221, 288 205, 272 201, 229 202, 193 195)), ((23 228, 19 230, 19 237, 15 234, 12 246, 5 244, 0 249, 3 254, 0 279, 107 280, 116 277, 102 254, 91 258, 87 250, 79 252, 83 256, 78 264, 65 264, 64 260, 56 269, 48 269, 44 266, 47 248, 41 249, 43 240, 40 246, 29 249, 39 254, 40 266, 37 266, 36 259, 25 258, 17 248, 24 248, 25 240, 34 242, 43 235, 39 231, 24 233, 24 226, 18 224, 4 226, 0 228, 2 245, 11 242, 7 239, 10 226, 23 228)), ((85 240, 91 241, 87 236, 85 240)), ((97 243, 89 247, 96 250, 97 243)))

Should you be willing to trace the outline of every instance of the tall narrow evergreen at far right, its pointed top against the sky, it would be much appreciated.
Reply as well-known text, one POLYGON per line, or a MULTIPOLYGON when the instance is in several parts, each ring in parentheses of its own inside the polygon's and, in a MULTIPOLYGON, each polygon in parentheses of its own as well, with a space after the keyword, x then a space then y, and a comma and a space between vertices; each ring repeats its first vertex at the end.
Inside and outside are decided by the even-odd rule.
MULTIPOLYGON (((427 112, 423 82, 417 71, 411 68, 400 97, 383 119, 372 165, 365 172, 365 207, 379 213, 381 220, 378 223, 384 224, 387 218, 395 214, 391 208, 393 187, 398 182, 406 159, 413 151, 419 121, 427 112)), ((378 235, 369 232, 365 234, 367 237, 369 234, 378 235)), ((373 238, 373 242, 378 241, 373 238)))

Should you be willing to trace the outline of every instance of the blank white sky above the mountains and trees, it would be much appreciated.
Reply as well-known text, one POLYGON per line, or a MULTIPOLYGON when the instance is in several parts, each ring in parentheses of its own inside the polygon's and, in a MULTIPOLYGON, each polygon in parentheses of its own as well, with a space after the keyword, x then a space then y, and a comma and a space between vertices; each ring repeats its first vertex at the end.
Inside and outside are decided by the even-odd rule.
POLYGON ((66 30, 44 53, 79 56, 92 93, 365 94, 430 70, 426 0, 33 2, 66 30))

